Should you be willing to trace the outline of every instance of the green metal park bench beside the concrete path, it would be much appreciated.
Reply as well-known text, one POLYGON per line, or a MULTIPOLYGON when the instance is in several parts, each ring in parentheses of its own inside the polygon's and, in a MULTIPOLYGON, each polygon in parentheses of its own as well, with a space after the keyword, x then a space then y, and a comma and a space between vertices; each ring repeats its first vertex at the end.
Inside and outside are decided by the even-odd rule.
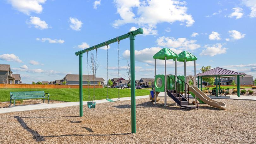
POLYGON ((10 92, 10 105, 12 99, 14 100, 14 107, 15 107, 15 100, 17 99, 33 99, 33 98, 44 98, 43 103, 45 102, 45 98, 48 98, 48 104, 49 104, 49 99, 50 94, 45 93, 45 91, 19 91, 19 92, 10 92), (46 97, 47 95, 47 97, 46 97))

